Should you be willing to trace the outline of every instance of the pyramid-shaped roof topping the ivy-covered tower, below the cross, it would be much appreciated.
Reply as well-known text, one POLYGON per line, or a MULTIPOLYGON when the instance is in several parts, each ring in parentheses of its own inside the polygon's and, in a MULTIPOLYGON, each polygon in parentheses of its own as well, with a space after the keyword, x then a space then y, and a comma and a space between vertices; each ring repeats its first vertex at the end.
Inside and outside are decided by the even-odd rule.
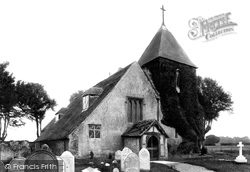
POLYGON ((165 25, 160 27, 138 63, 140 66, 143 66, 157 57, 166 58, 196 68, 165 25))

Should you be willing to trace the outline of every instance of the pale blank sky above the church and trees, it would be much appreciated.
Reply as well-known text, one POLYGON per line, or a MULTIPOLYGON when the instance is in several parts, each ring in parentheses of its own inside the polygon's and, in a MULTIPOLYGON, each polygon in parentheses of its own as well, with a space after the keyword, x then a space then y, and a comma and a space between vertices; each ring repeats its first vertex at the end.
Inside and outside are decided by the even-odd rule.
MULTIPOLYGON (((233 113, 223 112, 208 134, 250 137, 248 74, 250 11, 247 0, 11 0, 0 1, 0 63, 16 80, 44 85, 55 99, 43 127, 86 90, 138 61, 162 24, 174 35, 197 75, 216 80, 232 94, 233 113), (189 21, 231 13, 234 32, 205 41, 192 40, 189 21)), ((6 140, 36 139, 34 122, 8 129, 6 140)))

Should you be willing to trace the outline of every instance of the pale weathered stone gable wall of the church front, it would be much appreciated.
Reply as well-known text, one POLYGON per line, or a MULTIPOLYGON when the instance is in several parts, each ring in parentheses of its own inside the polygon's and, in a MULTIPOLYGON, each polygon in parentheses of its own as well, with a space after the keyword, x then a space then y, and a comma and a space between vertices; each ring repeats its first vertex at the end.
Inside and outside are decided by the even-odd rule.
MULTIPOLYGON (((78 135, 78 156, 107 156, 123 148, 121 135, 131 125, 127 118, 127 97, 143 98, 143 119, 157 119, 155 92, 140 66, 135 62, 111 93, 75 130, 78 135), (89 124, 101 124, 101 138, 89 138, 89 124)), ((73 140, 70 141, 72 148, 73 140)), ((73 151, 73 150, 72 150, 73 151)))

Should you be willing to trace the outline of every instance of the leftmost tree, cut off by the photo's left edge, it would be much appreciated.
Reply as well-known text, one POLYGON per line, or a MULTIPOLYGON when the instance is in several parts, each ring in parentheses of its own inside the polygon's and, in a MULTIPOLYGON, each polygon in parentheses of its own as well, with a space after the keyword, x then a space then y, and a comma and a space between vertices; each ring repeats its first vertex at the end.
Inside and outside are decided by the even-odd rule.
POLYGON ((8 126, 24 125, 23 113, 17 108, 15 78, 6 71, 8 62, 0 64, 0 142, 7 137, 8 126))

